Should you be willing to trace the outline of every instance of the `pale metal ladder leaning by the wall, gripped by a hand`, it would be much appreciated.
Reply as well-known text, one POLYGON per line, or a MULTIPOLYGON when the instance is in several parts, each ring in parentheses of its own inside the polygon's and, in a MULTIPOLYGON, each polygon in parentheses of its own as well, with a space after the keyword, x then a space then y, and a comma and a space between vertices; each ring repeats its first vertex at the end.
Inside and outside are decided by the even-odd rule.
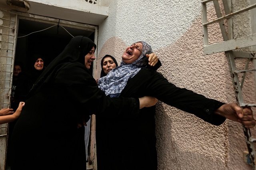
MULTIPOLYGON (((234 91, 236 95, 237 104, 240 107, 256 107, 256 104, 252 103, 244 103, 244 98, 242 94, 242 87, 244 85, 244 80, 246 77, 246 73, 254 73, 254 85, 256 85, 256 23, 253 20, 251 23, 252 26, 252 34, 248 36, 243 36, 241 38, 233 39, 233 23, 232 18, 238 14, 249 10, 255 10, 254 14, 256 14, 256 0, 251 0, 251 4, 246 8, 242 8, 236 12, 232 12, 231 10, 231 0, 222 0, 223 8, 225 11, 225 16, 222 16, 221 8, 218 0, 202 0, 202 27, 203 27, 203 39, 204 39, 204 55, 225 52, 225 55, 228 59, 228 65, 230 69, 230 74, 232 78, 232 83, 234 86, 234 91), (207 3, 213 3, 216 16, 215 20, 208 22, 207 20, 207 3), (225 20, 226 26, 225 26, 225 20), (223 42, 213 43, 209 45, 208 42, 208 26, 211 24, 219 23, 221 34, 223 37, 223 42), (237 49, 244 47, 252 47, 251 50, 238 51, 237 49), (253 49, 254 48, 254 49, 253 49), (245 61, 245 68, 243 70, 237 70, 236 67, 236 58, 243 58, 245 61), (248 69, 249 63, 252 63, 254 66, 253 69, 248 69)), ((252 11, 250 11, 252 12, 252 11)), ((244 136, 246 138, 246 144, 250 156, 250 165, 252 165, 255 170, 255 162, 254 158, 256 155, 254 142, 256 142, 255 138, 252 138, 250 129, 245 128, 243 126, 244 136)))

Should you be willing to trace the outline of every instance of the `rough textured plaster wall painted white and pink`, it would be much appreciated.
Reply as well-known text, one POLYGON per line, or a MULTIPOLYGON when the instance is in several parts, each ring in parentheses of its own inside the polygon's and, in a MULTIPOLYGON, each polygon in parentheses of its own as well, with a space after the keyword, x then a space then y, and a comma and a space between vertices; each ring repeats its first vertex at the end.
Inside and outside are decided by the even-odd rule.
MULTIPOLYGON (((162 61, 158 71, 170 82, 225 103, 236 102, 224 53, 203 56, 200 0, 102 0, 101 5, 109 6, 109 17, 99 26, 98 66, 106 54, 120 62, 128 45, 144 40, 162 61)), ((208 10, 213 13, 214 7, 208 10)), ((209 35, 211 43, 222 41, 218 24, 209 35)), ((250 77, 244 91, 253 96, 253 103, 250 77)), ((158 102, 156 136, 159 170, 252 169, 243 162, 247 148, 239 123, 227 120, 216 127, 158 102)))

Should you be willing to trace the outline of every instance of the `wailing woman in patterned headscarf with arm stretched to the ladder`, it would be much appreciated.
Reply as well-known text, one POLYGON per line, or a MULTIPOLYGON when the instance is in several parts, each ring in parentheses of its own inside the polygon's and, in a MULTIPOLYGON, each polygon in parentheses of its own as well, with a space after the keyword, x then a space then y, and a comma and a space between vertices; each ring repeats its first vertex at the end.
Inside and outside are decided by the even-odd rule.
MULTIPOLYGON (((120 65, 100 78, 98 87, 110 97, 153 96, 216 126, 226 119, 242 123, 247 128, 255 126, 249 107, 242 109, 236 103, 208 99, 176 87, 157 71, 145 69, 148 53, 152 53, 152 49, 146 42, 128 46, 120 65)), ((109 112, 112 110, 106 110, 109 112)), ((156 107, 152 106, 140 109, 140 114, 134 117, 96 115, 104 120, 96 126, 98 170, 157 170, 155 113, 156 107)))

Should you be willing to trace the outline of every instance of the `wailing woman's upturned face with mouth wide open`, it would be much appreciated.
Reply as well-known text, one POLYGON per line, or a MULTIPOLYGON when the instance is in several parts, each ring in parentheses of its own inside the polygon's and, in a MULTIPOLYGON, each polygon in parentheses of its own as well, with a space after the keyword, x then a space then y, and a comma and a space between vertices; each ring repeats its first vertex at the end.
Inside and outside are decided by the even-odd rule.
POLYGON ((126 48, 124 54, 122 55, 122 59, 124 63, 130 64, 136 61, 142 53, 142 43, 134 43, 126 48))

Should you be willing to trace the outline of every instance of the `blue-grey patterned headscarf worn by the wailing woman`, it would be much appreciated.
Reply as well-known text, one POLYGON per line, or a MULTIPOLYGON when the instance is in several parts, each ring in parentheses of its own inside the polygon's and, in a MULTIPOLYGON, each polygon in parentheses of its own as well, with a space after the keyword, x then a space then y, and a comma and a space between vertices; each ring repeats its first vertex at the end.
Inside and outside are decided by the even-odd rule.
POLYGON ((151 46, 142 42, 142 54, 131 64, 126 64, 121 61, 120 66, 112 69, 105 77, 98 80, 98 87, 110 95, 110 97, 119 97, 120 93, 127 84, 127 81, 134 77, 141 68, 145 68, 148 64, 146 54, 153 53, 151 46))

